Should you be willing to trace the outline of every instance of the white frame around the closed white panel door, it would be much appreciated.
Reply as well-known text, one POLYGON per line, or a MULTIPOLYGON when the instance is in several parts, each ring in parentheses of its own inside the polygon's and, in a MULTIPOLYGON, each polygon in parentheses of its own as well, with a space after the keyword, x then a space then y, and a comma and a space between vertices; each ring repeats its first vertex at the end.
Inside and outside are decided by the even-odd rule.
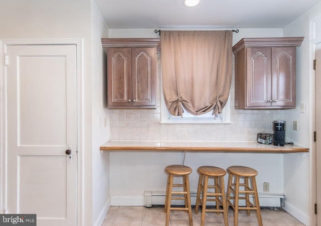
POLYGON ((2 39, 0 40, 0 213, 7 208, 7 158, 6 158, 6 57, 10 45, 76 45, 77 51, 77 225, 84 220, 83 181, 83 40, 82 39, 2 39))

